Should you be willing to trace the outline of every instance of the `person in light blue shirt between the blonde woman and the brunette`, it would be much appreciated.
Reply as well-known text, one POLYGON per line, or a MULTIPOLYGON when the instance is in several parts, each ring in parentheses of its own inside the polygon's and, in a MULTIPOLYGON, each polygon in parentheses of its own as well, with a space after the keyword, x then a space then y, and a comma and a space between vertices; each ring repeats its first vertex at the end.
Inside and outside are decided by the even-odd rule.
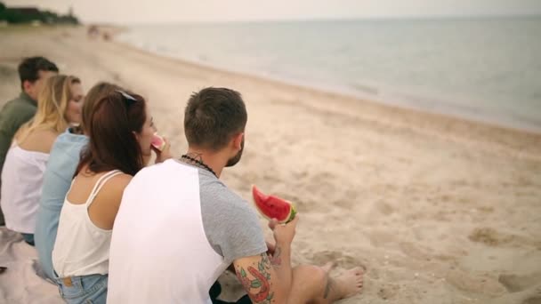
POLYGON ((62 205, 75 175, 81 151, 88 143, 88 125, 98 100, 120 88, 115 84, 99 83, 85 96, 80 127, 72 127, 54 141, 44 172, 43 190, 37 211, 36 250, 45 276, 53 280, 52 247, 56 240, 62 205))

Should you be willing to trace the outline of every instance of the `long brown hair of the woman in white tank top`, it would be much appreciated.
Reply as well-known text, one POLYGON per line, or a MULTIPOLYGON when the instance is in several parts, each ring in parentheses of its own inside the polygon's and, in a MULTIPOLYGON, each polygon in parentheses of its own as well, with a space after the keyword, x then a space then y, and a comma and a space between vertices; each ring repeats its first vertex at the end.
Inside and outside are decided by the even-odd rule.
POLYGON ((141 132, 146 119, 146 101, 140 95, 113 91, 98 100, 89 121, 85 122, 90 140, 76 175, 85 165, 94 173, 120 170, 135 175, 139 172, 143 157, 133 132, 141 132))

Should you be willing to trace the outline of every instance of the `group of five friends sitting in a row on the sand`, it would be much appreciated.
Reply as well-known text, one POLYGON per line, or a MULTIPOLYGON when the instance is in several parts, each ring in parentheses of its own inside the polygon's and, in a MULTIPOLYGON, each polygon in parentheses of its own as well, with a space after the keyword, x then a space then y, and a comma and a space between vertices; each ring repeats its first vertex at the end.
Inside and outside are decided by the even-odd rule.
MULTIPOLYGON (((269 221, 220 180, 238 163, 247 113, 240 93, 208 87, 184 110, 188 150, 171 156, 140 94, 59 74, 44 57, 19 66, 20 96, 0 112, 0 225, 36 247, 40 273, 68 303, 330 303, 360 292, 363 269, 291 266, 299 217, 269 221), (155 157, 152 157, 155 154, 155 157), (149 164, 151 158, 155 164, 149 164)), ((8 269, 9 271, 9 269, 8 269)))

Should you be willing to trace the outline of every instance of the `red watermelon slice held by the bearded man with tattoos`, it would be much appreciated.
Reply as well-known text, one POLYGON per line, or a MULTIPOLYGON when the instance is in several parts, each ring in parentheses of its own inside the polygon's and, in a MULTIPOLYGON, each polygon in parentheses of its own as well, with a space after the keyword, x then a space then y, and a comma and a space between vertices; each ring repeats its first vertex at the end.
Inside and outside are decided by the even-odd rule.
POLYGON ((276 219, 286 224, 295 219, 295 205, 278 196, 266 196, 257 187, 252 186, 252 196, 257 210, 267 220, 276 219))

